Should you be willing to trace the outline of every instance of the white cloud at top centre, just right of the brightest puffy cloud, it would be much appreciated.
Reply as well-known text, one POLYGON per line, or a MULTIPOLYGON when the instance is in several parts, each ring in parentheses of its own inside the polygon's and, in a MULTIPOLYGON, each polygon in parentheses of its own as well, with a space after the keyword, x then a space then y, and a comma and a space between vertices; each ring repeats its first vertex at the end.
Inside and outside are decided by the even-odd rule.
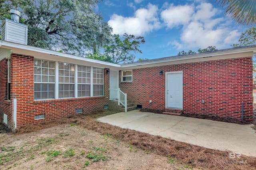
POLYGON ((171 29, 178 25, 187 24, 193 13, 193 5, 174 6, 174 4, 171 4, 169 8, 161 12, 161 18, 166 26, 171 29))

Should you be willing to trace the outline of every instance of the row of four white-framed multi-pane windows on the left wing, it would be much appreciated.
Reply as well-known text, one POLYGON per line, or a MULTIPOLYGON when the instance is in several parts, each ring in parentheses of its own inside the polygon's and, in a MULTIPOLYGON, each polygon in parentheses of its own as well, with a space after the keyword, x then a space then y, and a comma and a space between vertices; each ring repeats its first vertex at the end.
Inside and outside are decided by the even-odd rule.
MULTIPOLYGON (((9 64, 10 61, 8 82, 9 64)), ((34 59, 34 100, 103 96, 103 70, 91 66, 34 59)))

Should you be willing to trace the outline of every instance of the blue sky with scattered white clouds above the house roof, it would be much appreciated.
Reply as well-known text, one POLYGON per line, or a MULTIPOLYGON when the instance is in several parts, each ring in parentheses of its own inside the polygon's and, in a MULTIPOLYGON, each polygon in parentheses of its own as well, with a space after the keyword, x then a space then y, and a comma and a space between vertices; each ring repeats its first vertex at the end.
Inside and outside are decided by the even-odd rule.
POLYGON ((141 35, 138 58, 155 59, 216 46, 230 48, 242 31, 214 0, 103 0, 96 8, 113 33, 141 35))

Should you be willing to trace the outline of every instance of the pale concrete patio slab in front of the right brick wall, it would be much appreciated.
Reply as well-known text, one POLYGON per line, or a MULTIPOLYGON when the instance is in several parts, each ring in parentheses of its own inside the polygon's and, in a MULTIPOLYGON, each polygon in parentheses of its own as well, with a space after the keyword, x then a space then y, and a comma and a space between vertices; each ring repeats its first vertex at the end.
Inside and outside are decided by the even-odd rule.
POLYGON ((98 121, 210 149, 256 156, 256 133, 252 124, 238 125, 139 110, 100 117, 98 121))

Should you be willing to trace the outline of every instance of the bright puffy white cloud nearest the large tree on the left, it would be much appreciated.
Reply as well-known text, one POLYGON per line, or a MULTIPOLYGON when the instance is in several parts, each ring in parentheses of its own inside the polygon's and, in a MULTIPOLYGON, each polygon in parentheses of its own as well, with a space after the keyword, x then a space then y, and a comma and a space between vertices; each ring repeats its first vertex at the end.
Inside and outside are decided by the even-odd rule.
POLYGON ((154 29, 160 28, 160 21, 157 16, 158 7, 148 4, 147 8, 136 10, 133 17, 123 17, 113 14, 108 24, 113 28, 115 34, 144 35, 154 29))

